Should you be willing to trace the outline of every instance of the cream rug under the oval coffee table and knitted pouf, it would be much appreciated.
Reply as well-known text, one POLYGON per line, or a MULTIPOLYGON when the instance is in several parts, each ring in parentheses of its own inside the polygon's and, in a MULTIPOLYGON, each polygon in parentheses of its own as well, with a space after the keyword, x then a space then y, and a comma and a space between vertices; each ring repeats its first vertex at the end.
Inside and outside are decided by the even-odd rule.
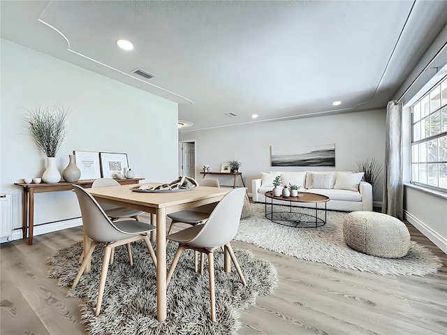
MULTIPOLYGON (((277 253, 292 255, 303 260, 321 262, 332 267, 367 271, 381 275, 433 274, 442 267, 442 262, 430 250, 411 241, 409 253, 403 258, 390 259, 365 255, 346 245, 342 221, 348 214, 328 211, 326 225, 318 228, 291 228, 265 218, 264 204, 251 204, 251 216, 240 221, 236 240, 277 253)), ((315 209, 294 208, 305 214, 315 209)))

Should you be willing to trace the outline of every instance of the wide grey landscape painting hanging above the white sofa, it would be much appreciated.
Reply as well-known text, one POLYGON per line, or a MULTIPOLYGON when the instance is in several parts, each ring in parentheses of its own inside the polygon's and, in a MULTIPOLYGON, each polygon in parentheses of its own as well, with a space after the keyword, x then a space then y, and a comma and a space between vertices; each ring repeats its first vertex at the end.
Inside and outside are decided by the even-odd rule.
POLYGON ((272 166, 335 166, 335 143, 298 145, 293 149, 270 147, 272 166))

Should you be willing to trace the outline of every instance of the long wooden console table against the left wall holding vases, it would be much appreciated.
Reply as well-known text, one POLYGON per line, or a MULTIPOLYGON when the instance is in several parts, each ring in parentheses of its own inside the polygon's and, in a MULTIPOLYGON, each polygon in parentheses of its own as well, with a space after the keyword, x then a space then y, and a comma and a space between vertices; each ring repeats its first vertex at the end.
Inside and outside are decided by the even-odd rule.
MULTIPOLYGON (((144 178, 132 179, 115 179, 121 185, 138 184, 144 178)), ((62 181, 55 184, 24 184, 14 183, 23 188, 23 209, 22 209, 22 232, 23 238, 28 237, 28 244, 33 244, 34 233, 34 193, 56 192, 56 191, 71 191, 73 184, 80 185, 83 188, 90 188, 95 179, 85 179, 76 181, 75 183, 67 183, 62 181), (28 234, 29 230, 29 234, 28 234)))

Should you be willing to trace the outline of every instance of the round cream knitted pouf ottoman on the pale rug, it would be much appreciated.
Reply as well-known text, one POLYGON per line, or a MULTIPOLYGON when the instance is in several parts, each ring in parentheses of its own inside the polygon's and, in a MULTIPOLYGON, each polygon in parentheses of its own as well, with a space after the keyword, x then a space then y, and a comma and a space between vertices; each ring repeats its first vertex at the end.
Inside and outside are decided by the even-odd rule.
POLYGON ((343 219, 346 244, 360 253, 401 258, 410 248, 410 233, 399 219, 374 211, 353 211, 343 219))

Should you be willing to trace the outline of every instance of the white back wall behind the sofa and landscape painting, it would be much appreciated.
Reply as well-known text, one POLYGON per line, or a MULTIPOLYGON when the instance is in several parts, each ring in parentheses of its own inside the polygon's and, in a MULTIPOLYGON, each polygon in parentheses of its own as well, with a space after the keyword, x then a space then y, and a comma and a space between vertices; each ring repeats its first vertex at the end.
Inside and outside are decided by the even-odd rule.
MULTIPOLYGON (((379 164, 385 156, 386 110, 369 110, 348 114, 310 117, 288 121, 258 122, 240 126, 214 128, 203 131, 179 133, 179 140, 196 140, 197 175, 203 165, 210 164, 220 171, 221 163, 242 161, 242 176, 251 193, 251 180, 260 178, 261 172, 276 170, 356 170, 356 161, 376 158, 379 164), (293 153, 300 144, 335 143, 334 167, 284 167, 270 166, 270 146, 285 146, 293 153)), ((213 176, 216 177, 216 176, 213 176)), ((226 177, 221 184, 232 184, 226 177)), ((382 181, 382 180, 381 180, 382 181)), ((382 183, 374 195, 382 201, 382 183)))

